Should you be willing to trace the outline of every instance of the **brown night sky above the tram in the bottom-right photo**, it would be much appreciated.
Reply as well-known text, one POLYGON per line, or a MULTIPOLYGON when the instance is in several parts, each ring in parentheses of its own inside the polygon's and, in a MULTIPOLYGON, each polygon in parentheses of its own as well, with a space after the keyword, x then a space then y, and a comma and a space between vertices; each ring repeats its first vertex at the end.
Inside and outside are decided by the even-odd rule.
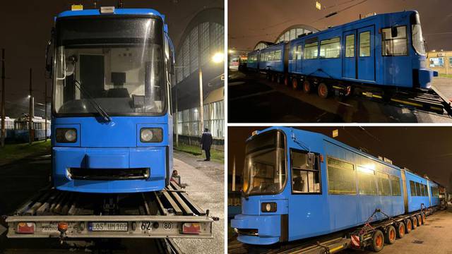
MULTIPOLYGON (((228 138, 228 175, 236 162, 237 174, 241 174, 244 164, 245 140, 253 131, 265 127, 229 127, 228 138)), ((452 191, 452 127, 297 127, 307 131, 323 133, 331 137, 334 129, 339 130, 335 138, 352 147, 362 147, 374 156, 391 159, 398 167, 407 167, 411 171, 448 186, 452 191)), ((231 181, 229 187, 231 188, 231 181)))

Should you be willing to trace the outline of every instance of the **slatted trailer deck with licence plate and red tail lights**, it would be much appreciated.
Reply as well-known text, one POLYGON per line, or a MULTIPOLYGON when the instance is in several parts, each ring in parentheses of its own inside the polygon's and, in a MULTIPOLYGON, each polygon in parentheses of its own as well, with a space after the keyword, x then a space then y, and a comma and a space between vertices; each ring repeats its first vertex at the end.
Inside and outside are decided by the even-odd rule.
POLYGON ((45 188, 6 217, 8 238, 212 238, 215 217, 174 183, 100 195, 45 188))

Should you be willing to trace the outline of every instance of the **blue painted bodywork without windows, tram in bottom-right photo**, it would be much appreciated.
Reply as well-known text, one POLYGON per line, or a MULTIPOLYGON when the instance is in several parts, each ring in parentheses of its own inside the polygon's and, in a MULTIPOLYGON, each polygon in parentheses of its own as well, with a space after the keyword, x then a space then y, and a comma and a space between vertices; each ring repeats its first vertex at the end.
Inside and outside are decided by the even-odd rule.
MULTIPOLYGON (((270 127, 258 132, 258 134, 275 129, 285 133, 288 179, 281 193, 276 195, 250 195, 247 198, 242 198, 242 214, 232 219, 231 226, 237 229, 258 229, 258 236, 239 235, 239 241, 250 244, 272 244, 280 241, 280 217, 273 218, 272 223, 274 224, 271 226, 273 231, 268 231, 268 224, 264 224, 260 219, 261 217, 265 217, 264 220, 268 220, 268 216, 273 214, 275 216, 281 214, 288 215, 288 241, 295 241, 362 225, 376 209, 380 209, 389 216, 397 216, 405 213, 404 189, 401 176, 403 171, 399 167, 383 162, 376 157, 367 155, 362 151, 319 133, 286 127, 270 127), (294 142, 292 137, 295 137, 297 142, 294 142), (307 150, 306 147, 302 147, 299 143, 303 143, 306 147, 309 147, 311 152, 323 155, 323 162, 320 163, 321 193, 292 193, 291 160, 287 158, 290 158, 290 148, 307 150), (400 180, 398 182, 398 188, 400 188, 401 194, 361 195, 359 194, 358 185, 356 186, 357 194, 338 195, 328 193, 328 157, 354 164, 355 181, 357 181, 357 166, 359 165, 371 164, 374 167, 374 171, 397 176, 400 180), (268 200, 278 202, 278 210, 276 212, 261 212, 261 202, 268 202, 268 200), (283 206, 281 207, 281 205, 283 206)), ((422 181, 422 183, 427 184, 427 181, 422 179, 422 177, 414 174, 410 174, 410 177, 412 177, 411 175, 413 177, 415 176, 417 181, 422 181)), ((377 184, 376 186, 378 189, 377 184)), ((428 200, 428 196, 411 199, 410 207, 412 207, 412 210, 410 211, 420 210, 420 203, 423 202, 425 205, 428 205, 428 200)), ((385 218, 382 214, 377 214, 374 220, 385 218)))

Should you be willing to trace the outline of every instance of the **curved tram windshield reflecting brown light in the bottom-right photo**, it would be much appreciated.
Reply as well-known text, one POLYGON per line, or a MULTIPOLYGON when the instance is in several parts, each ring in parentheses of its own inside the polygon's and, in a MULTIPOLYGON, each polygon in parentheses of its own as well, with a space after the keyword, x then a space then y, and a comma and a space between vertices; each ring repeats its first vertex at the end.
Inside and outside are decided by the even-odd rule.
POLYGON ((280 193, 285 186, 286 171, 283 133, 270 131, 246 143, 244 195, 280 193))

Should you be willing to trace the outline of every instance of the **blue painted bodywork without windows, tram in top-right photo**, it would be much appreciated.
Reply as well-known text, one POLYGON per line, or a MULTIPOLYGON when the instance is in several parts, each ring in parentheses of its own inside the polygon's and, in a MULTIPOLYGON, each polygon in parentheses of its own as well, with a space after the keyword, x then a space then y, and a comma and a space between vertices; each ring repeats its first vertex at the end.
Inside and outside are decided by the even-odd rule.
MULTIPOLYGON (((289 44, 288 73, 290 75, 305 75, 319 78, 329 78, 332 80, 352 81, 356 83, 396 86, 396 87, 421 87, 430 88, 432 78, 437 75, 434 71, 426 68, 426 56, 417 54, 412 46, 412 29, 410 25, 410 15, 416 11, 403 11, 398 13, 385 13, 376 16, 363 18, 344 25, 338 25, 327 30, 316 32, 311 35, 299 37, 289 44), (391 26, 406 26, 407 32, 407 55, 406 56, 383 56, 381 47, 381 28, 391 26), (370 32, 370 56, 359 55, 359 34, 370 32), (355 35, 355 56, 345 57, 345 36, 355 35), (294 50, 302 46, 308 40, 318 38, 320 52, 321 40, 340 37, 340 56, 338 58, 323 59, 295 59, 294 50), (417 74, 416 74, 417 73, 417 74)), ((270 46, 262 49, 259 53, 266 52, 274 47, 283 48, 283 44, 270 46)), ((303 50, 300 54, 304 54, 303 50)), ((262 61, 260 69, 266 66, 274 71, 284 71, 284 59, 280 61, 262 61)))

